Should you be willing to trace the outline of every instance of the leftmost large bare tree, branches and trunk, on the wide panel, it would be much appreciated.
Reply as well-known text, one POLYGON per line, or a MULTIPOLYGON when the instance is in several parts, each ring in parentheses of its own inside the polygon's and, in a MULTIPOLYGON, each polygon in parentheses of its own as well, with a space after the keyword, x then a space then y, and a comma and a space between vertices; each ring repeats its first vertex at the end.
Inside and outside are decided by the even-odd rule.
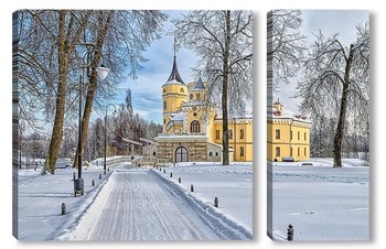
MULTIPOLYGON (((36 112, 44 110, 53 129, 45 170, 55 171, 63 137, 67 97, 67 76, 72 53, 78 43, 90 11, 24 10, 21 12, 19 43, 21 86, 31 90, 21 95, 20 112, 30 127, 36 126, 36 112), (54 105, 53 105, 54 104, 54 105), (41 108, 41 109, 39 109, 41 108)), ((37 124, 39 126, 39 124, 37 124)))

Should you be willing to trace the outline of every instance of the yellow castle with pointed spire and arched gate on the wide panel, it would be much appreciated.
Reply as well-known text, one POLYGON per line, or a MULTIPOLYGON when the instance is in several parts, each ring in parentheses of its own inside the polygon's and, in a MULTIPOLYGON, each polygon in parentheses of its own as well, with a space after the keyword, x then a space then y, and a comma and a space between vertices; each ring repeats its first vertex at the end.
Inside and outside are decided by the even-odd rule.
MULTIPOLYGON (((174 55, 172 72, 162 85, 163 133, 158 134, 158 158, 170 162, 221 162, 223 121, 218 107, 207 101, 207 84, 201 77, 185 84, 174 55)), ((253 161, 253 117, 228 122, 229 159, 253 161)))

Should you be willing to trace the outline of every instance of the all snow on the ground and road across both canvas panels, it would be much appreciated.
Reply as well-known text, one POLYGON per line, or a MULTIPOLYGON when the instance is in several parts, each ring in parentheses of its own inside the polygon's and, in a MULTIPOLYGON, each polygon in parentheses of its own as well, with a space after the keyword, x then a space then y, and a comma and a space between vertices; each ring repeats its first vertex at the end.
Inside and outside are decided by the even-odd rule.
MULTIPOLYGON (((85 195, 78 197, 72 182, 76 170, 58 169, 54 175, 18 171, 19 240, 253 239, 253 163, 189 162, 162 169, 126 163, 107 175, 94 163, 83 171, 85 195)), ((342 169, 333 169, 332 159, 303 163, 268 166, 274 197, 268 234, 274 240, 286 240, 289 224, 294 240, 368 240, 369 166, 356 159, 344 159, 342 169)))

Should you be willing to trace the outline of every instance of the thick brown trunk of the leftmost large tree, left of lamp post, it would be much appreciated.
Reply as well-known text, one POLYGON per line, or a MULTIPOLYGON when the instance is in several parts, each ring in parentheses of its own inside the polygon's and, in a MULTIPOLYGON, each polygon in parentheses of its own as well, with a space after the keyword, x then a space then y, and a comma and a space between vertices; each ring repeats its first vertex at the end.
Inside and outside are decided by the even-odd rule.
POLYGON ((60 11, 60 30, 57 37, 57 53, 58 53, 58 83, 57 83, 57 96, 56 96, 56 109, 54 127, 52 129, 52 137, 50 142, 50 149, 45 159, 44 169, 51 174, 55 173, 55 164, 60 153, 62 137, 63 137, 63 122, 64 122, 64 106, 65 106, 65 93, 67 85, 67 71, 68 71, 68 55, 65 46, 65 18, 66 10, 60 11))

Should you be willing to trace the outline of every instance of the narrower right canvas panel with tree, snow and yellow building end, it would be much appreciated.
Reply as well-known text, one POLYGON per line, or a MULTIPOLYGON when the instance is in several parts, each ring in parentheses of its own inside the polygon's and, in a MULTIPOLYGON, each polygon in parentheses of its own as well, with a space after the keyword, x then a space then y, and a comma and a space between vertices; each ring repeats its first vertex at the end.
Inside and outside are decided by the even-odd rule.
POLYGON ((369 13, 267 20, 267 234, 369 240, 369 13))

